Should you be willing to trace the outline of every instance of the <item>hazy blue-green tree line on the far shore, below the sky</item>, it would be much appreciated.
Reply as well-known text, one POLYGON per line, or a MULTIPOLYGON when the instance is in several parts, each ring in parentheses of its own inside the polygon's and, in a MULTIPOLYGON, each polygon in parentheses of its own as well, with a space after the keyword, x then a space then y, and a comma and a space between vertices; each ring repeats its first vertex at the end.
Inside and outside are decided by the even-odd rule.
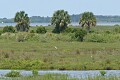
MULTIPOLYGON (((79 18, 82 14, 73 14, 70 15, 71 22, 79 22, 79 18)), ((120 16, 103 16, 103 15, 95 15, 97 22, 120 22, 120 16)), ((50 23, 51 17, 43 17, 43 16, 32 16, 29 17, 31 23, 50 23)), ((0 23, 14 23, 14 19, 0 18, 0 23)))

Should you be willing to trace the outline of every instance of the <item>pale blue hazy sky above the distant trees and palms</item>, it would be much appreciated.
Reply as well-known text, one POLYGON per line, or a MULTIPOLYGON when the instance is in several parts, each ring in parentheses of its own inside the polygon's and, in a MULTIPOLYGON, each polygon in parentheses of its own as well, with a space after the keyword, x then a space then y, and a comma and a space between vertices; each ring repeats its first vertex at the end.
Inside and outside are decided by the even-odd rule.
POLYGON ((59 9, 69 14, 92 11, 97 15, 120 15, 120 0, 0 0, 0 17, 13 18, 24 10, 29 16, 52 16, 59 9))

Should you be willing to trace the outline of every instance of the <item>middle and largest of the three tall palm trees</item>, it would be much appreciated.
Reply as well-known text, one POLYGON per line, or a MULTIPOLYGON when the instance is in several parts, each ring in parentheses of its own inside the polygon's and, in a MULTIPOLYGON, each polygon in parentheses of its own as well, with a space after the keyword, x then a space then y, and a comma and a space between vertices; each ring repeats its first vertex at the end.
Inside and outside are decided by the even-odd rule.
POLYGON ((51 24, 55 26, 54 33, 60 33, 67 28, 70 23, 70 16, 67 11, 58 10, 53 14, 51 24))

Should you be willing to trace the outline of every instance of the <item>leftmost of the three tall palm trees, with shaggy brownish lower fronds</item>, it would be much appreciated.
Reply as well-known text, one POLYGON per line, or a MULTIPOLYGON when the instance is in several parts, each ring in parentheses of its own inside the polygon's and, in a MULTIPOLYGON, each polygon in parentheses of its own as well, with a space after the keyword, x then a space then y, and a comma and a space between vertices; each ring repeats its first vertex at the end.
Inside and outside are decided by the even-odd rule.
POLYGON ((17 31, 28 31, 30 20, 28 14, 24 11, 17 12, 14 18, 14 21, 17 22, 16 29, 17 31))

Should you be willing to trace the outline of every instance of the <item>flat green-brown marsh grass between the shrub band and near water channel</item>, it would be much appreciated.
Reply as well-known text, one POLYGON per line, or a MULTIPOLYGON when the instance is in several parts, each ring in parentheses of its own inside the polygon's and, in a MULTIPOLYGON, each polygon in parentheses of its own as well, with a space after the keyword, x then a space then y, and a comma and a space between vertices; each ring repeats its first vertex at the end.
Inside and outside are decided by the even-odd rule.
POLYGON ((120 69, 119 43, 1 41, 0 45, 1 69, 120 69))

